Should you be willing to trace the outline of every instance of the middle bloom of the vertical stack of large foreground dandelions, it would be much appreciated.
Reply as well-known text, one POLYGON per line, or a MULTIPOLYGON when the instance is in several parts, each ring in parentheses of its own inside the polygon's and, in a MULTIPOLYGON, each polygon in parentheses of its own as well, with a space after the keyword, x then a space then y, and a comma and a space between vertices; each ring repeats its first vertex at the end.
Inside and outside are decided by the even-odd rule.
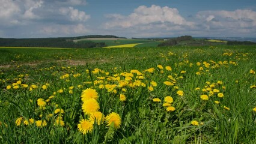
POLYGON ((82 110, 85 114, 97 112, 100 109, 99 103, 93 98, 84 101, 82 104, 82 110))

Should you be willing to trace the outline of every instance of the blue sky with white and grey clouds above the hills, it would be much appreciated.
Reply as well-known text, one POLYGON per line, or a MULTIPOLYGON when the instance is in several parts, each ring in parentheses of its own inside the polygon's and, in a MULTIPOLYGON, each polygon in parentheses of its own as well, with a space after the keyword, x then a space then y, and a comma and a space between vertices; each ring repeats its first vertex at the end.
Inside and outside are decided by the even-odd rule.
POLYGON ((255 0, 0 0, 1 38, 256 37, 255 0))

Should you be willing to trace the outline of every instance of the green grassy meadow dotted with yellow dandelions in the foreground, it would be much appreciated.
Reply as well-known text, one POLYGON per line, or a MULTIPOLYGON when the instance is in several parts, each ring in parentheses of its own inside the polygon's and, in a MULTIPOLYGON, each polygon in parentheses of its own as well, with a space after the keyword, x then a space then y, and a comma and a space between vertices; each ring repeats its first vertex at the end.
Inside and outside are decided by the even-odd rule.
POLYGON ((0 48, 0 143, 256 143, 256 46, 0 48))

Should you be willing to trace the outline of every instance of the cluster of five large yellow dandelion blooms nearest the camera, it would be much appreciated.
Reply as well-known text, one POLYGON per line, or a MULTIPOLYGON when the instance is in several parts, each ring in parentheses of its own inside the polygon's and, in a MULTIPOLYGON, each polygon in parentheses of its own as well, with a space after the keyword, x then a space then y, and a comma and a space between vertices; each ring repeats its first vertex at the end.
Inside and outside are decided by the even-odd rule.
POLYGON ((118 113, 111 112, 105 117, 103 113, 99 111, 100 106, 97 101, 98 98, 99 95, 95 89, 88 88, 82 91, 82 111, 84 112, 85 117, 88 117, 88 119, 81 119, 81 121, 79 121, 78 130, 82 134, 91 133, 94 124, 106 124, 107 126, 113 125, 115 129, 118 129, 121 126, 121 118, 118 113))

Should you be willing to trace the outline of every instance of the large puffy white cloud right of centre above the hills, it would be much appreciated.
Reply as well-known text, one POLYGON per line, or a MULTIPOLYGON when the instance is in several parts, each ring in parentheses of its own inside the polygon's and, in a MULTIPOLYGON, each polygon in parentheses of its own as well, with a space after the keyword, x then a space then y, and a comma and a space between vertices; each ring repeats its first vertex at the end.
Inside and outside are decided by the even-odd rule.
POLYGON ((105 24, 106 28, 120 26, 121 28, 130 28, 138 25, 183 25, 193 26, 193 22, 187 22, 176 8, 160 7, 158 5, 145 5, 136 8, 129 16, 121 16, 120 14, 107 14, 106 18, 111 21, 105 24))

